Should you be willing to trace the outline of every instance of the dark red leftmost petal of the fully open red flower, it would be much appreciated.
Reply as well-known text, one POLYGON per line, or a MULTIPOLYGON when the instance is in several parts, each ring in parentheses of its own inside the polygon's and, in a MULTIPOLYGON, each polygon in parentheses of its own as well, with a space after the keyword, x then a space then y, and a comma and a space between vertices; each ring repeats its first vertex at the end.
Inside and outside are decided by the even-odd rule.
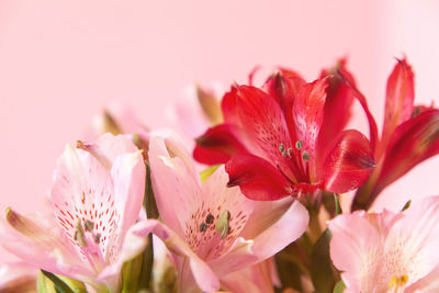
POLYGON ((236 136, 235 126, 221 124, 209 128, 205 134, 196 138, 193 150, 195 160, 214 165, 224 164, 237 154, 246 154, 246 147, 236 136))

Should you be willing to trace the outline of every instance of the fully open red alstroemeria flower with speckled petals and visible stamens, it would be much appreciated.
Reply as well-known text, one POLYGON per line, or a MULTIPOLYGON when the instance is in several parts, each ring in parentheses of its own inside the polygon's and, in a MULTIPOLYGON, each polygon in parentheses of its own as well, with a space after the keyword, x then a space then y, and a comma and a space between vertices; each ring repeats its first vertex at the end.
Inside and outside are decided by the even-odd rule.
POLYGON ((306 83, 289 70, 272 76, 263 90, 234 86, 222 101, 225 123, 198 139, 194 157, 227 162, 229 185, 254 200, 353 190, 374 161, 368 138, 342 129, 349 109, 342 112, 340 104, 352 99, 345 87, 334 77, 306 83), (331 120, 333 129, 324 125, 333 126, 331 120))

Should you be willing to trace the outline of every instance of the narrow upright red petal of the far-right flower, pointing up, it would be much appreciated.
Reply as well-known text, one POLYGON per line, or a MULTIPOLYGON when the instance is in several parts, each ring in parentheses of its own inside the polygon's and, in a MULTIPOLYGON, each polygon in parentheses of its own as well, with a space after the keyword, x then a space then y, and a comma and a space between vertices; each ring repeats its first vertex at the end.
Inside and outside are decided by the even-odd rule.
POLYGON ((415 97, 412 67, 398 60, 387 80, 385 116, 381 145, 385 148, 396 126, 412 116, 415 97))

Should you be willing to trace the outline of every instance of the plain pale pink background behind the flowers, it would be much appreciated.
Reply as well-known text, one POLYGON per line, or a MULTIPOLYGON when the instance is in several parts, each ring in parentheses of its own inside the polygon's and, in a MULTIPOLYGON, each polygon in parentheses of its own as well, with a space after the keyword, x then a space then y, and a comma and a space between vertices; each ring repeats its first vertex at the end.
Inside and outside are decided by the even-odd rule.
MULTIPOLYGON (((405 53, 417 101, 438 104, 439 5, 382 2, 1 1, 0 211, 43 209, 64 145, 83 137, 108 102, 121 100, 161 126, 187 84, 245 81, 255 65, 314 79, 349 56, 381 125, 386 77, 405 53)), ((438 166, 429 160, 399 180, 378 209, 438 194, 438 166)), ((11 259, 0 250, 0 263, 11 259)))

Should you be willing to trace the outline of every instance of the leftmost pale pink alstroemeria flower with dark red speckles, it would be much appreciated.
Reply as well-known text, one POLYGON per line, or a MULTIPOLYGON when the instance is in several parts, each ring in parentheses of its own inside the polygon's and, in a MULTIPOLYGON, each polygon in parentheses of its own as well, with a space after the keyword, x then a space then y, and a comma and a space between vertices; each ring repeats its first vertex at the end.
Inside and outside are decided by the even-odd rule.
POLYGON ((78 147, 67 145, 57 161, 50 190, 54 214, 23 216, 9 209, 0 223, 0 244, 37 268, 98 290, 105 283, 115 292, 119 272, 105 280, 100 273, 130 255, 122 241, 142 207, 145 164, 121 135, 105 134, 78 147))

